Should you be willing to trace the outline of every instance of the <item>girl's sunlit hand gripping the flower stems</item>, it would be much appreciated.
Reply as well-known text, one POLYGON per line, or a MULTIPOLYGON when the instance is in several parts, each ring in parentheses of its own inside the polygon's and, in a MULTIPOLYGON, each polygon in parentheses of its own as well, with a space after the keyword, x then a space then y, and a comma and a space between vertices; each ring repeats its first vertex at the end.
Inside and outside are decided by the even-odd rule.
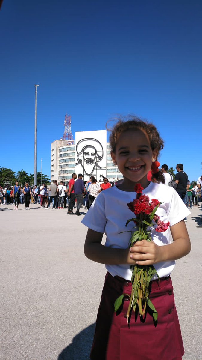
POLYGON ((161 261, 161 246, 147 240, 137 241, 130 249, 130 258, 137 265, 152 265, 161 261))

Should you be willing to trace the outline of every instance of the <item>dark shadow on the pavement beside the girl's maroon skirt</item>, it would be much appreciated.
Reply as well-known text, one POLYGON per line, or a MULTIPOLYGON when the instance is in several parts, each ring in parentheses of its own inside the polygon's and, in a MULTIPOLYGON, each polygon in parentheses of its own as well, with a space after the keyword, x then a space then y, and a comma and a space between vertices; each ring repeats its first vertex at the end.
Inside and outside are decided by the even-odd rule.
POLYGON ((94 332, 95 323, 77 334, 72 343, 60 353, 58 360, 89 360, 94 332))

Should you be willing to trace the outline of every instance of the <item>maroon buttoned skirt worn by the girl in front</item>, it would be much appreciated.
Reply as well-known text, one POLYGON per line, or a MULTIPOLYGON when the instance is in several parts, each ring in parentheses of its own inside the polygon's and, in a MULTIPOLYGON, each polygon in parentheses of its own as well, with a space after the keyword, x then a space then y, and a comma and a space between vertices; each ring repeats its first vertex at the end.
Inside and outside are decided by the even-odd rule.
POLYGON ((114 312, 114 302, 121 294, 131 294, 131 282, 106 274, 98 309, 91 360, 182 360, 184 347, 175 307, 170 277, 151 282, 150 299, 158 312, 156 326, 147 313, 144 322, 132 311, 130 327, 123 308, 114 312))

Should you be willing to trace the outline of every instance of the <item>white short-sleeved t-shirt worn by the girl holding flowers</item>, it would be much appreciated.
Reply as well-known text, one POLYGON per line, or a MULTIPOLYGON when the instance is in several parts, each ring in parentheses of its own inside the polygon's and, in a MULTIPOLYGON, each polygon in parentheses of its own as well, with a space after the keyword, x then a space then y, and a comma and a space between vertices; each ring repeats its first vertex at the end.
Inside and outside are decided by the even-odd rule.
MULTIPOLYGON (((164 186, 161 184, 150 183, 143 194, 148 195, 150 201, 157 199, 162 204, 157 209, 156 213, 160 220, 170 222, 170 226, 177 224, 190 214, 190 211, 185 206, 182 199, 174 188, 164 186)), ((110 189, 102 191, 95 199, 89 208, 82 224, 89 229, 106 234, 105 246, 113 248, 126 249, 129 246, 131 237, 130 231, 135 231, 134 222, 129 222, 127 227, 125 224, 127 220, 134 217, 134 213, 129 210, 127 203, 136 198, 136 192, 125 192, 113 186, 110 189), (129 232, 127 232, 129 231, 129 232)), ((172 236, 170 229, 163 233, 158 233, 154 228, 151 229, 151 236, 153 242, 159 246, 170 244, 172 236)), ((130 265, 105 265, 106 269, 112 276, 121 276, 126 280, 131 280, 132 272, 130 265)), ((175 267, 175 261, 159 262, 154 264, 154 267, 160 278, 169 276, 175 267)))

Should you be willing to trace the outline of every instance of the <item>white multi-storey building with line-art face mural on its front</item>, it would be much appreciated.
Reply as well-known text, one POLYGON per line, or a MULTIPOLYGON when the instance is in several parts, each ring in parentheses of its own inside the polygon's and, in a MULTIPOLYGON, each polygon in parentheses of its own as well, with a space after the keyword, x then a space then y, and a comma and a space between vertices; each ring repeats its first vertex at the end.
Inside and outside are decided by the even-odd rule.
POLYGON ((79 131, 75 133, 75 144, 68 140, 55 140, 51 143, 51 183, 53 180, 69 181, 73 172, 83 174, 83 180, 102 175, 109 180, 123 179, 110 156, 107 131, 79 131))

